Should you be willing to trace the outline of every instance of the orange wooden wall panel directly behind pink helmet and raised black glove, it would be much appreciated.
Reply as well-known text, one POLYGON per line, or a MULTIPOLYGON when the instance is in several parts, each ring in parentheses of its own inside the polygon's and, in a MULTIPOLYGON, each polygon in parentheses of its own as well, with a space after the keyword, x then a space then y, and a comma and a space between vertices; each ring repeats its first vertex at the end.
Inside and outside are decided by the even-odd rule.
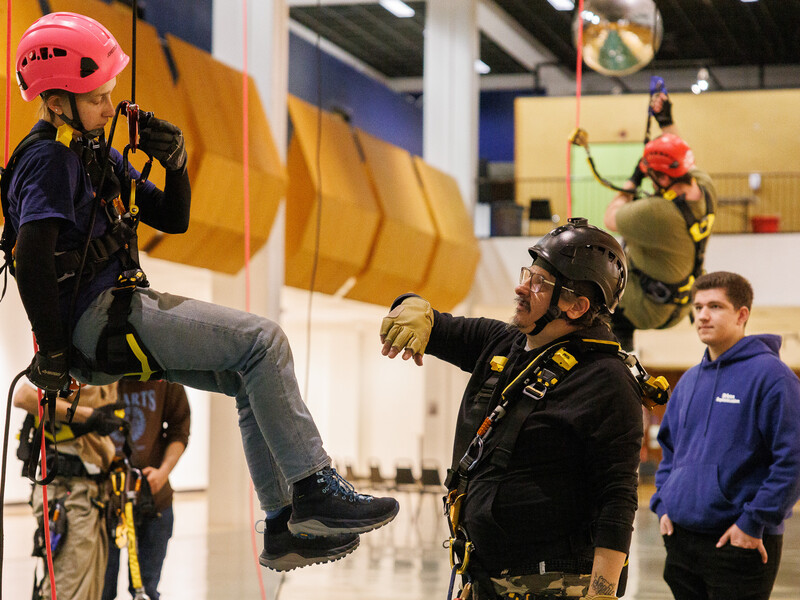
MULTIPOLYGON (((106 4, 100 0, 50 0, 53 11, 76 12, 99 21, 105 25, 116 38, 120 47, 131 57, 131 62, 117 77, 117 87, 112 94, 115 103, 131 100, 131 81, 133 78, 133 39, 132 10, 119 2, 106 4)), ((172 79, 164 50, 155 27, 141 20, 136 24, 136 103, 141 110, 152 112, 157 118, 174 123, 183 130, 186 150, 189 156, 194 154, 194 136, 190 131, 187 119, 187 102, 183 92, 177 88, 172 79)), ((110 133, 110 123, 106 127, 106 135, 110 133)), ((129 143, 127 120, 124 113, 117 119, 114 132, 114 148, 123 151, 129 143)), ((129 154, 131 164, 137 169, 144 166, 146 155, 143 152, 129 154)), ((191 165, 190 165, 191 166, 191 165)), ((150 172, 150 181, 159 188, 164 187, 164 169, 154 161, 150 172)), ((139 246, 147 247, 158 232, 147 225, 139 227, 139 246)))

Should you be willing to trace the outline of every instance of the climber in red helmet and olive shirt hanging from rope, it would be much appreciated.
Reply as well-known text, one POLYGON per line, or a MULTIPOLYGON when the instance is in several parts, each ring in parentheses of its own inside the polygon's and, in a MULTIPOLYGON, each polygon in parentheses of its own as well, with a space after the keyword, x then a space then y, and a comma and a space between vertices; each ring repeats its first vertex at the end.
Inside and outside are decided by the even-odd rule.
POLYGON ((662 135, 645 146, 623 186, 631 192, 617 194, 604 217, 606 228, 622 236, 628 256, 630 282, 612 324, 629 351, 634 330, 673 327, 689 314, 689 290, 702 273, 716 210, 714 184, 678 136, 671 101, 655 94, 651 108, 662 135), (644 176, 655 192, 637 200, 644 176))

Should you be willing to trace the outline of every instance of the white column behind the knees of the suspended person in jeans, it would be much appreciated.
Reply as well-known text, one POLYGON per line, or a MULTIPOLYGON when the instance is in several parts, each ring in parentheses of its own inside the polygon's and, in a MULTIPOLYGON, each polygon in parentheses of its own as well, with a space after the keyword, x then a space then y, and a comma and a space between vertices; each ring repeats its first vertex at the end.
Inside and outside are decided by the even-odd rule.
MULTIPOLYGON (((247 70, 255 79, 281 159, 286 156, 289 11, 285 0, 247 0, 247 70)), ((242 69, 243 5, 213 3, 214 58, 242 69)), ((241 107, 231 106, 241 114, 241 107)), ((241 199, 237 199, 241 201, 241 199)), ((257 198, 251 198, 251 205, 257 198)), ((284 215, 279 211, 269 241, 250 264, 250 311, 278 320, 283 286, 284 215)), ((244 252, 244 248, 242 248, 244 252)), ((236 277, 214 275, 213 302, 245 308, 244 270, 236 277)), ((233 398, 214 396, 209 432, 209 526, 247 527, 250 476, 244 460, 233 398)), ((256 519, 263 512, 255 501, 256 519)))

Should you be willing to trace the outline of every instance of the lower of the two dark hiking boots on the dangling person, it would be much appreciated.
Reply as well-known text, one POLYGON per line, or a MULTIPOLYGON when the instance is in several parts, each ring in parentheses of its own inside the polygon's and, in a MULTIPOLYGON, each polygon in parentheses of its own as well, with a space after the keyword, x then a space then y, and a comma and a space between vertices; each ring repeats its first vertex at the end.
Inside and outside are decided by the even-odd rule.
POLYGON ((264 531, 264 550, 258 562, 274 571, 291 571, 299 567, 333 562, 358 548, 357 534, 346 533, 327 537, 308 534, 292 535, 286 524, 289 511, 268 519, 264 531))

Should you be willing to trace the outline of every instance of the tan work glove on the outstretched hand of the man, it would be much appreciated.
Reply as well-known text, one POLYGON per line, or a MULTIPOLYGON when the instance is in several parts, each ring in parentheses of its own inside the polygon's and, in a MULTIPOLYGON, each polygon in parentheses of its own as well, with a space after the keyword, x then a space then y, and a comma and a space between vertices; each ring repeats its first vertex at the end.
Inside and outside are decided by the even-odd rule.
POLYGON ((394 358, 403 352, 403 360, 412 356, 422 365, 422 355, 431 337, 433 309, 430 302, 419 296, 410 296, 383 318, 381 323, 381 354, 394 358))

